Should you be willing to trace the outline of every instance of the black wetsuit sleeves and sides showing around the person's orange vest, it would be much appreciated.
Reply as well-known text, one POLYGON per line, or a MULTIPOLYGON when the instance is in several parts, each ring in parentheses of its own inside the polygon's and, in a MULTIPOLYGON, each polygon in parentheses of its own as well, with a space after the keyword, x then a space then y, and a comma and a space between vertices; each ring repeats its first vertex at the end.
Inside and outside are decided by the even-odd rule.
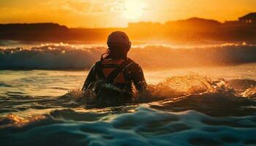
MULTIPOLYGON (((129 58, 124 59, 124 61, 126 61, 127 64, 132 63, 129 64, 129 66, 127 66, 123 71, 124 78, 125 80, 127 80, 127 83, 116 86, 121 89, 128 89, 129 92, 132 92, 133 82, 138 92, 143 92, 144 90, 146 90, 146 80, 141 67, 129 58)), ((94 64, 94 66, 91 67, 86 81, 84 82, 83 90, 88 89, 91 82, 97 81, 97 74, 98 72, 101 72, 102 69, 98 64, 100 64, 101 62, 102 61, 98 61, 96 64, 94 64)))

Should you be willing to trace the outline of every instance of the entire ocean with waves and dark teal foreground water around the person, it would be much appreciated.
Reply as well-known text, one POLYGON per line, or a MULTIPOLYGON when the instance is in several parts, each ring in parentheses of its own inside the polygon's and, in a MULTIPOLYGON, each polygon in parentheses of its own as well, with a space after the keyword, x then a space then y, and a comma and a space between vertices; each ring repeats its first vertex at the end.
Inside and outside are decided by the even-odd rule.
POLYGON ((140 45, 150 94, 80 91, 102 45, 0 49, 0 145, 256 145, 256 45, 140 45))

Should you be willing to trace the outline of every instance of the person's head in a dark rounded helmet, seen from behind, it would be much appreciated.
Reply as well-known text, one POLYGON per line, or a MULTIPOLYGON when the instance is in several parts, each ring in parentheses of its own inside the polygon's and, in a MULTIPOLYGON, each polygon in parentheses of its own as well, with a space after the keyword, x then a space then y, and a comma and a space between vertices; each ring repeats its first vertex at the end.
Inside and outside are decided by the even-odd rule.
POLYGON ((131 42, 123 31, 112 32, 108 36, 107 44, 109 58, 127 58, 131 42))

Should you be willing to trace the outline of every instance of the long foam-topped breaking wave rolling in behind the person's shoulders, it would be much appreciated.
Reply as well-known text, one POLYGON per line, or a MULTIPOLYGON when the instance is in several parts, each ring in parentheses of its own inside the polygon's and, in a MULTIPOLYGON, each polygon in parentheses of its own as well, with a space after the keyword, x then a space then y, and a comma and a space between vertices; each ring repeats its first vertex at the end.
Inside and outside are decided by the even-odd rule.
MULTIPOLYGON (((102 46, 41 45, 0 49, 0 69, 85 69, 106 50, 102 46)), ((129 57, 145 68, 216 66, 256 62, 256 46, 224 44, 174 48, 167 45, 135 46, 129 57)))

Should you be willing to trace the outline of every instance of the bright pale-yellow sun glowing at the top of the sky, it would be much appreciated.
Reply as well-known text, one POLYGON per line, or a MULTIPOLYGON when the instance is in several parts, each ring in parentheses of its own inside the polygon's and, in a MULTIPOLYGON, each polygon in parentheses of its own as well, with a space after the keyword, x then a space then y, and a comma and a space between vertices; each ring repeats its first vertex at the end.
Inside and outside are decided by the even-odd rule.
POLYGON ((138 0, 129 0, 124 3, 124 18, 135 20, 143 15, 145 4, 138 0))

